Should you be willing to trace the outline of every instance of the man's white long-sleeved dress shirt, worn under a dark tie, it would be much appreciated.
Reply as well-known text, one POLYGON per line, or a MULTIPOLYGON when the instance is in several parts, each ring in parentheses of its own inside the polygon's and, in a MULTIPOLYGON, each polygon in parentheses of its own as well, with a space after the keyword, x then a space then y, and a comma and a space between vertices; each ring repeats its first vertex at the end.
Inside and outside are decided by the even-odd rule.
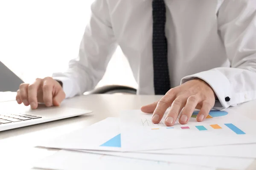
MULTIPOLYGON (((165 3, 171 86, 203 79, 218 96, 214 108, 219 110, 256 99, 256 0, 165 3)), ((97 85, 117 45, 131 65, 137 94, 154 94, 151 4, 152 0, 95 0, 79 56, 65 73, 53 74, 63 82, 67 97, 97 85)))

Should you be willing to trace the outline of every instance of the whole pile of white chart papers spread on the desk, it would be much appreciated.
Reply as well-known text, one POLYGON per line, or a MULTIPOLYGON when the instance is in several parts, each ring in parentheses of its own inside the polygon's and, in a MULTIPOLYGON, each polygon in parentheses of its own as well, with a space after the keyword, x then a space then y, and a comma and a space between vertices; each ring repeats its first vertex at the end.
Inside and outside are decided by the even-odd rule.
POLYGON ((196 122, 197 113, 187 125, 176 122, 175 126, 166 127, 163 121, 153 124, 151 114, 125 111, 121 118, 108 118, 41 144, 64 150, 35 166, 61 170, 90 166, 243 170, 253 163, 255 121, 227 110, 211 111, 204 122, 196 122))

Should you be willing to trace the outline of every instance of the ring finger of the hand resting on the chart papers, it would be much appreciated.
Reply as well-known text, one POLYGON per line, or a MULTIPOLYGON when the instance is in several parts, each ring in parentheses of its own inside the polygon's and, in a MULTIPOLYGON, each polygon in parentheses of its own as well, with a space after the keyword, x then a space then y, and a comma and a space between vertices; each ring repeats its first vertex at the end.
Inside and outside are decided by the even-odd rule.
POLYGON ((193 111, 195 110, 195 107, 198 105, 198 102, 200 102, 199 96, 189 96, 186 105, 180 115, 180 124, 186 124, 189 121, 193 111))

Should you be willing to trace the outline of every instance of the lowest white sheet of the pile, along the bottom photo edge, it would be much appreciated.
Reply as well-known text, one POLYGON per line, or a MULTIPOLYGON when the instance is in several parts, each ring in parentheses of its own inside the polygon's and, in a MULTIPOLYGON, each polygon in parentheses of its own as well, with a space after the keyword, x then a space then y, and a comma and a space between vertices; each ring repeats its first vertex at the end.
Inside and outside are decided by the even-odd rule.
POLYGON ((101 154, 61 150, 35 164, 47 170, 215 170, 215 168, 145 161, 101 154))

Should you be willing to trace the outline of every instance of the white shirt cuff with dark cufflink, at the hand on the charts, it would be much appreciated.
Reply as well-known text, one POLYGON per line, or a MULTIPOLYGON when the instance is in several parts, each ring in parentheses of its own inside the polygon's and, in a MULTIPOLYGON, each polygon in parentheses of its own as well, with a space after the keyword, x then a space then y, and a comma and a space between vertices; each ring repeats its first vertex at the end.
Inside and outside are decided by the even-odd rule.
POLYGON ((208 83, 209 86, 211 86, 211 88, 215 92, 218 100, 215 101, 213 109, 224 110, 230 106, 230 102, 226 101, 226 99, 230 98, 230 100, 232 100, 231 85, 227 77, 224 76, 224 74, 215 69, 203 71, 197 74, 183 77, 180 81, 180 84, 183 84, 194 78, 204 80, 208 83))

